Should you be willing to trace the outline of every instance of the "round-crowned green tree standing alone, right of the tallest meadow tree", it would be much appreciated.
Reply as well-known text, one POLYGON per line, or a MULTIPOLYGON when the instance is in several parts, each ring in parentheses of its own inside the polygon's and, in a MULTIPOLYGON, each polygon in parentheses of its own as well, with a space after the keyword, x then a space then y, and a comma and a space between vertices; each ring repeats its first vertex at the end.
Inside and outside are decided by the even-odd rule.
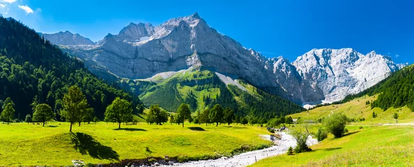
POLYGON ((127 100, 116 97, 114 102, 107 106, 105 118, 118 122, 118 129, 121 129, 121 123, 130 120, 132 117, 132 106, 127 100))

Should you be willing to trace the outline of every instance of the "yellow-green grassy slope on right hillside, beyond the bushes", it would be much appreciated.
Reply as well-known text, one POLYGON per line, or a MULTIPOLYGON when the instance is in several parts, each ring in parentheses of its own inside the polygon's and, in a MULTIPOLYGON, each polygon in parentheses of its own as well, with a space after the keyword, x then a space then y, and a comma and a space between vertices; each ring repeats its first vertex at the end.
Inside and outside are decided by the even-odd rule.
POLYGON ((395 120, 392 118, 392 115, 397 112, 399 114, 399 122, 414 122, 414 112, 406 106, 398 109, 390 108, 386 111, 383 111, 380 108, 371 109, 371 105, 366 104, 366 102, 372 102, 375 99, 376 96, 365 96, 344 104, 321 106, 316 109, 303 111, 302 113, 296 113, 290 116, 293 119, 300 117, 316 120, 318 118, 326 118, 332 113, 344 113, 348 118, 365 118, 365 121, 361 122, 361 124, 378 124, 394 123, 395 120), (375 112, 378 116, 372 118, 372 112, 375 112))

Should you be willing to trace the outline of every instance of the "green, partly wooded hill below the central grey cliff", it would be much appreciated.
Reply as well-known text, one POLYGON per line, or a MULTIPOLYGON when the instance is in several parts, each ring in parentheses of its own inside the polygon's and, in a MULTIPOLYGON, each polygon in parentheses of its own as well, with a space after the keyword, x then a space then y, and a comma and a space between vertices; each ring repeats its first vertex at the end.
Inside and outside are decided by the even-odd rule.
MULTIPOLYGON (((137 85, 146 82, 138 81, 137 85)), ((266 119, 304 111, 289 100, 266 93, 241 80, 239 83, 245 90, 233 84, 224 84, 214 72, 187 70, 178 72, 160 84, 149 86, 140 97, 145 104, 160 104, 167 111, 176 111, 181 103, 189 104, 192 111, 203 111, 220 104, 224 108, 230 107, 238 116, 266 119)))

